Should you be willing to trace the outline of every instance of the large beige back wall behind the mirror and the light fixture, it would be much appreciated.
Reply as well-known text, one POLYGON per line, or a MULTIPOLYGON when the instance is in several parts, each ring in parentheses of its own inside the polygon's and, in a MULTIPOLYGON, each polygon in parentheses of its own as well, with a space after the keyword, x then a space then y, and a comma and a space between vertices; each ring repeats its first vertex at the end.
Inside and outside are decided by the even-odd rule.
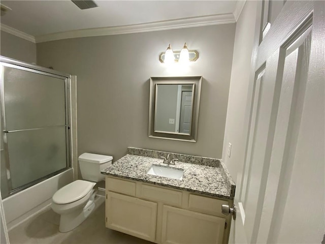
POLYGON ((127 146, 221 158, 235 24, 67 39, 37 44, 38 64, 77 75, 78 155, 127 146), (168 69, 158 55, 187 42, 199 59, 168 69), (203 76, 196 143, 148 137, 150 76, 203 76))

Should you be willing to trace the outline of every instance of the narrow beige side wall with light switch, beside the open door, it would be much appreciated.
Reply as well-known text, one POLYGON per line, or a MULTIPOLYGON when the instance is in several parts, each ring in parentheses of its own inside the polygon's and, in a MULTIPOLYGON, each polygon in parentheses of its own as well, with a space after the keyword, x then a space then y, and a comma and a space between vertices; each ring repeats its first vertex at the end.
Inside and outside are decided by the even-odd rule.
POLYGON ((255 21, 256 2, 246 1, 236 25, 228 112, 222 150, 222 160, 236 184, 240 183, 237 181, 237 172, 242 172, 244 163, 245 146, 243 145, 246 144, 246 141, 243 139, 243 133, 248 87, 252 72, 251 59, 254 55, 255 21), (230 158, 228 157, 229 143, 232 144, 230 158))

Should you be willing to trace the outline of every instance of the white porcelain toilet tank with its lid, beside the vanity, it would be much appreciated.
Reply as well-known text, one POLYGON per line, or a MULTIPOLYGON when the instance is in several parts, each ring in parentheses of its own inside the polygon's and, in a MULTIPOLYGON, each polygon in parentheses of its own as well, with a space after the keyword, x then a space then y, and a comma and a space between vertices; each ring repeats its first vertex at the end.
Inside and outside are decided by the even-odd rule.
POLYGON ((101 170, 112 164, 113 157, 99 154, 84 153, 79 156, 81 176, 85 180, 99 182, 105 179, 101 170))

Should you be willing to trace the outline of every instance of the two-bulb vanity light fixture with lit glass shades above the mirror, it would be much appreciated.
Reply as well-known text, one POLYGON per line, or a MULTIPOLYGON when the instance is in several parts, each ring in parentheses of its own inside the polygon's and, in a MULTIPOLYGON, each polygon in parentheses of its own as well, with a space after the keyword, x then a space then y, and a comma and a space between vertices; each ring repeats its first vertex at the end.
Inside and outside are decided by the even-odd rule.
POLYGON ((181 51, 173 51, 171 44, 168 45, 166 52, 161 52, 159 55, 160 63, 173 64, 182 63, 187 64, 193 62, 199 58, 199 52, 197 50, 188 50, 186 42, 181 51))

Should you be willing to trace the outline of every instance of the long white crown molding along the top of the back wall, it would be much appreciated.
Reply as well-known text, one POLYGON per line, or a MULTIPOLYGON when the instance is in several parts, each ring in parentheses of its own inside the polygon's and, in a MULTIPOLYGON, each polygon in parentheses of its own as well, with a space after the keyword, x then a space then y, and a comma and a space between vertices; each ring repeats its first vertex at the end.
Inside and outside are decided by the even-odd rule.
POLYGON ((184 19, 177 19, 177 20, 151 22, 145 24, 78 29, 76 31, 36 36, 35 40, 36 43, 40 43, 40 42, 48 42, 48 41, 70 39, 70 38, 165 31, 168 29, 178 29, 178 28, 187 28, 187 27, 215 25, 215 24, 228 24, 228 23, 236 23, 236 20, 232 13, 209 15, 209 16, 196 17, 196 18, 184 18, 184 19))

